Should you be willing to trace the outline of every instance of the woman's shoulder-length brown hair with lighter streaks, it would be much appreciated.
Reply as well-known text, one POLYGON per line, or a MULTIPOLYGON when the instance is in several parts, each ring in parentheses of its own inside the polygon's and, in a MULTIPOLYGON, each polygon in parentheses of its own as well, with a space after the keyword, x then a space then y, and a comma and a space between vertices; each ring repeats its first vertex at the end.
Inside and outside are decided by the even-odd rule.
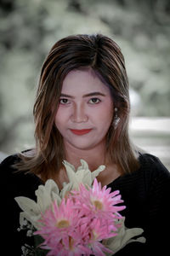
POLYGON ((73 69, 92 68, 109 86, 118 109, 120 122, 111 125, 106 140, 107 159, 116 163, 122 173, 133 172, 139 162, 128 136, 129 91, 124 57, 119 46, 101 34, 72 35, 60 39, 42 65, 34 105, 36 149, 22 154, 20 170, 30 170, 46 181, 62 167, 65 159, 63 139, 54 125, 59 96, 65 76, 73 69))

